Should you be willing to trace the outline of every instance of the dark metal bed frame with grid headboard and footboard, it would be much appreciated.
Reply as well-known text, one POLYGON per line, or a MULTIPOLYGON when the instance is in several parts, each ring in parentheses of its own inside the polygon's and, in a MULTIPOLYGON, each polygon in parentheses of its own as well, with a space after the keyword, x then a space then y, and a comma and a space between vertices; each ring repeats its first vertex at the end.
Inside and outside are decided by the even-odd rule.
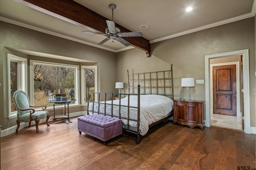
MULTIPOLYGON (((88 86, 88 96, 87 96, 87 115, 90 113, 96 113, 101 114, 104 116, 110 116, 110 117, 116 117, 118 119, 127 119, 127 129, 123 128, 124 132, 127 132, 128 134, 134 134, 136 135, 136 143, 140 144, 140 95, 141 94, 158 94, 158 95, 164 95, 172 100, 174 99, 173 95, 173 74, 172 74, 172 64, 171 64, 171 70, 166 71, 157 71, 157 72, 145 72, 145 73, 132 73, 128 74, 128 94, 117 94, 117 93, 100 93, 100 92, 90 92, 90 87, 88 86), (138 86, 136 86, 138 84, 138 86), (92 101, 95 100, 95 95, 98 97, 97 102, 89 102, 90 95, 92 95, 92 101), (118 95, 119 96, 119 104, 113 104, 114 97, 118 95), (130 96, 136 95, 138 96, 138 105, 137 107, 130 106, 130 96), (122 106, 121 105, 121 96, 128 96, 128 106, 122 106), (112 102, 111 104, 106 103, 108 101, 108 98, 111 98, 112 102), (100 104, 104 102, 104 112, 100 113, 100 104), (92 109, 89 110, 89 103, 92 103, 92 109), (97 105, 98 111, 94 111, 94 105, 97 105), (106 113, 106 106, 111 106, 111 113, 106 113), (119 107, 119 115, 113 115, 113 106, 119 107), (128 115, 127 117, 122 117, 120 114, 121 107, 127 107, 128 115), (137 119, 130 118, 129 115, 129 109, 130 108, 137 108, 137 119), (137 121, 137 131, 130 130, 129 121, 137 121)), ((161 119, 155 123, 152 123, 149 125, 150 127, 153 127, 154 125, 157 125, 158 123, 165 121, 166 119, 170 118, 173 115, 173 110, 171 111, 171 114, 164 119, 161 119)))

